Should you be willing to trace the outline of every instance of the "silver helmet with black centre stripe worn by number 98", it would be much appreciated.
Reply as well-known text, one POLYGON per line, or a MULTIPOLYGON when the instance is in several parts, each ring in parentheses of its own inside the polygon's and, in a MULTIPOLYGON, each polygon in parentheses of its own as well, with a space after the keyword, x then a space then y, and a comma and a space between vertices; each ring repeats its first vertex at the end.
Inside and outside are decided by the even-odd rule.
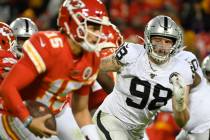
POLYGON ((152 19, 145 28, 144 38, 147 53, 157 64, 163 64, 169 61, 170 57, 184 48, 181 29, 167 16, 157 16, 152 19), (162 53, 158 54, 155 49, 157 49, 157 47, 163 48, 163 46, 154 46, 151 42, 153 36, 168 38, 173 40, 174 43, 170 48, 166 50, 163 49, 162 53))

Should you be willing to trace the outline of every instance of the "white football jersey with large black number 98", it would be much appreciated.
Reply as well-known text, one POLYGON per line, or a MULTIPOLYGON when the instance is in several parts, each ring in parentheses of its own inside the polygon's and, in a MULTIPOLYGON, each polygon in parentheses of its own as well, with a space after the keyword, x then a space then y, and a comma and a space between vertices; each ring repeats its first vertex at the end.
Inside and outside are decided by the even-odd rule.
POLYGON ((166 64, 155 65, 143 45, 124 43, 115 55, 124 66, 117 73, 113 92, 99 109, 123 121, 128 129, 146 126, 167 104, 172 97, 169 77, 173 73, 179 73, 186 85, 193 83, 189 63, 172 57, 166 64))

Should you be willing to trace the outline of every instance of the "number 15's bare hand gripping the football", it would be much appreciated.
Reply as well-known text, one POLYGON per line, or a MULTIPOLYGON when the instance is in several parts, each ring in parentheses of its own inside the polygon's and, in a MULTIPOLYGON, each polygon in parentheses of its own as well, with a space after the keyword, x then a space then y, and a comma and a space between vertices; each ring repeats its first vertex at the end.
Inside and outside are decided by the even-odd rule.
POLYGON ((51 118, 51 114, 46 114, 41 117, 33 118, 28 129, 36 136, 50 137, 51 135, 57 135, 56 131, 50 130, 45 126, 45 121, 51 118))

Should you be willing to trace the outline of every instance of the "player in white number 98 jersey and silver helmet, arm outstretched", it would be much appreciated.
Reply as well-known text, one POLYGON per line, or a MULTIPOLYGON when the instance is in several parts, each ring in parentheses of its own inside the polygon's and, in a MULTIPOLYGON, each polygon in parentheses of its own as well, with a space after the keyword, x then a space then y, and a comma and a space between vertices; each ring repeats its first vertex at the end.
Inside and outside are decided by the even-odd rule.
POLYGON ((188 93, 194 73, 190 64, 173 57, 183 49, 181 29, 168 16, 149 21, 145 45, 124 43, 101 63, 117 71, 116 84, 94 115, 101 139, 142 139, 145 127, 172 97, 177 123, 188 119, 188 93))

